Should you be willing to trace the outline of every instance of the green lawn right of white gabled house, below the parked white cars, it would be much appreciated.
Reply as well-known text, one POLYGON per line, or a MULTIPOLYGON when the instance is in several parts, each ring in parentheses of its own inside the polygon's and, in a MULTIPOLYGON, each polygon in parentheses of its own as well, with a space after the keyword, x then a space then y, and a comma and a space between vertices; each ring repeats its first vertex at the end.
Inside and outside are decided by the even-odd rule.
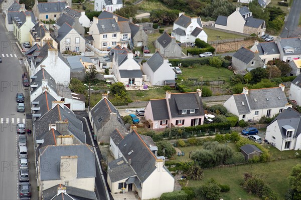
POLYGON ((229 76, 233 75, 233 72, 226 68, 216 68, 209 65, 204 65, 199 68, 181 68, 182 75, 178 75, 178 79, 188 78, 200 78, 203 77, 203 81, 216 81, 225 80, 229 82, 229 76))

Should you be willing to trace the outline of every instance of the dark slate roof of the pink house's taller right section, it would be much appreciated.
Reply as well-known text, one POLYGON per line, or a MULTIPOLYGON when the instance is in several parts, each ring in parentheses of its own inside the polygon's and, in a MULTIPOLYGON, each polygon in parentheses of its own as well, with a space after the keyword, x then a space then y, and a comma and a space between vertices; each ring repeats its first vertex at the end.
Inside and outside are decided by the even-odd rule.
POLYGON ((204 115, 202 98, 197 92, 171 94, 169 107, 172 117, 201 116, 204 115), (190 109, 196 109, 190 114, 190 109), (182 114, 182 110, 187 110, 187 114, 182 114))

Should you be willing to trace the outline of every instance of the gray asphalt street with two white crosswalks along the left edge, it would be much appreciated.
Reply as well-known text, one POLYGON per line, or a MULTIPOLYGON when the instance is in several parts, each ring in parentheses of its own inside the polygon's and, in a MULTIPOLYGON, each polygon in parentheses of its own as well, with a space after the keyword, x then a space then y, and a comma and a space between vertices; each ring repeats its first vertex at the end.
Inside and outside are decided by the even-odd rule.
POLYGON ((18 157, 16 124, 26 120, 17 112, 16 93, 23 92, 22 68, 0 20, 0 199, 18 199, 18 157))

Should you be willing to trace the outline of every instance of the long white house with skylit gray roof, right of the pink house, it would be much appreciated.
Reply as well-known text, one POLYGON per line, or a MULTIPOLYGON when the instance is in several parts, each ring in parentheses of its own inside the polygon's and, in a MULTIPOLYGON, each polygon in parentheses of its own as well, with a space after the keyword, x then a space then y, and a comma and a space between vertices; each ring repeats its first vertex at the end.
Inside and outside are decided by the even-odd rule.
POLYGON ((241 94, 232 95, 224 106, 239 120, 258 121, 263 116, 272 117, 291 106, 287 102, 284 88, 282 84, 275 88, 243 88, 241 94))

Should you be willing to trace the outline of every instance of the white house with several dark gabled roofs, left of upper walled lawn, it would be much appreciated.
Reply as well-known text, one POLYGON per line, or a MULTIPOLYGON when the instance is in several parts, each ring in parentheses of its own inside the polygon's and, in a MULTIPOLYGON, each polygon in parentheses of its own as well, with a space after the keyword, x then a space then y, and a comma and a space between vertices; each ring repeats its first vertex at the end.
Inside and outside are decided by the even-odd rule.
POLYGON ((197 38, 207 42, 208 39, 201 18, 191 18, 185 13, 179 13, 179 18, 174 22, 172 37, 181 43, 194 43, 197 38))

